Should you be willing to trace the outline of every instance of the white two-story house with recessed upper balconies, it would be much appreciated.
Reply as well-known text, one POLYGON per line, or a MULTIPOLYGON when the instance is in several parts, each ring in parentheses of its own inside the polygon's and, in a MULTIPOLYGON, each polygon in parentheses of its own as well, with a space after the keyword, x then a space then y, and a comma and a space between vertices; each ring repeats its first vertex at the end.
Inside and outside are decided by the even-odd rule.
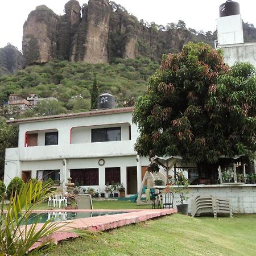
POLYGON ((7 121, 19 127, 19 145, 7 148, 5 184, 15 176, 100 188, 120 182, 126 195, 138 192, 148 159, 134 151, 138 137, 133 108, 7 121))

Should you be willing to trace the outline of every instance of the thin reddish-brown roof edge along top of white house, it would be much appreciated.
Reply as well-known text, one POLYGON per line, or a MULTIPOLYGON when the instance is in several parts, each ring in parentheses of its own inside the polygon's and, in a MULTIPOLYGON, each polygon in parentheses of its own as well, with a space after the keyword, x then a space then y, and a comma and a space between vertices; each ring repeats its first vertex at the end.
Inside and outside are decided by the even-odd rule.
POLYGON ((69 118, 77 118, 77 117, 89 117, 89 116, 93 116, 93 115, 127 113, 127 112, 133 112, 133 110, 134 110, 134 107, 118 108, 118 109, 98 109, 98 110, 92 110, 92 111, 80 112, 80 113, 45 115, 45 116, 40 116, 40 117, 14 119, 14 120, 8 120, 8 121, 6 121, 6 123, 8 125, 14 125, 14 124, 19 124, 19 123, 40 122, 40 121, 55 120, 55 119, 69 119, 69 118))

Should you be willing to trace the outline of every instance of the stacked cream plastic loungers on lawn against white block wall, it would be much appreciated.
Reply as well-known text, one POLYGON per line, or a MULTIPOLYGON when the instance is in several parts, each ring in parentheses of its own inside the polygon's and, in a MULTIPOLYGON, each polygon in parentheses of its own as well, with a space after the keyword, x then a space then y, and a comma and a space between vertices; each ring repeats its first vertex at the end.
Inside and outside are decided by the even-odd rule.
POLYGON ((191 216, 199 216, 201 213, 212 213, 214 218, 218 213, 229 213, 232 218, 232 207, 229 199, 220 199, 217 197, 197 196, 192 202, 191 216))

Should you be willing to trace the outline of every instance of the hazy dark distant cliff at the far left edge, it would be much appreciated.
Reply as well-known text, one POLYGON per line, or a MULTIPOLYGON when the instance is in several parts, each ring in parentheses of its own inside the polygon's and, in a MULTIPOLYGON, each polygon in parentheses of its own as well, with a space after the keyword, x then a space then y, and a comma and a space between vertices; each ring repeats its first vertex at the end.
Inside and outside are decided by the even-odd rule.
POLYGON ((0 75, 14 73, 23 65, 22 53, 11 44, 0 48, 0 75))

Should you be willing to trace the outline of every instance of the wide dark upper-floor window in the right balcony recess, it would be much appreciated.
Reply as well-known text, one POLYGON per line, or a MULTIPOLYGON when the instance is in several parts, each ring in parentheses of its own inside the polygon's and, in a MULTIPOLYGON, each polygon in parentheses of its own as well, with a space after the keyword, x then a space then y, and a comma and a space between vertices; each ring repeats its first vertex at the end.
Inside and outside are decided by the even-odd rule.
POLYGON ((92 129, 92 142, 121 141, 121 127, 92 129))

